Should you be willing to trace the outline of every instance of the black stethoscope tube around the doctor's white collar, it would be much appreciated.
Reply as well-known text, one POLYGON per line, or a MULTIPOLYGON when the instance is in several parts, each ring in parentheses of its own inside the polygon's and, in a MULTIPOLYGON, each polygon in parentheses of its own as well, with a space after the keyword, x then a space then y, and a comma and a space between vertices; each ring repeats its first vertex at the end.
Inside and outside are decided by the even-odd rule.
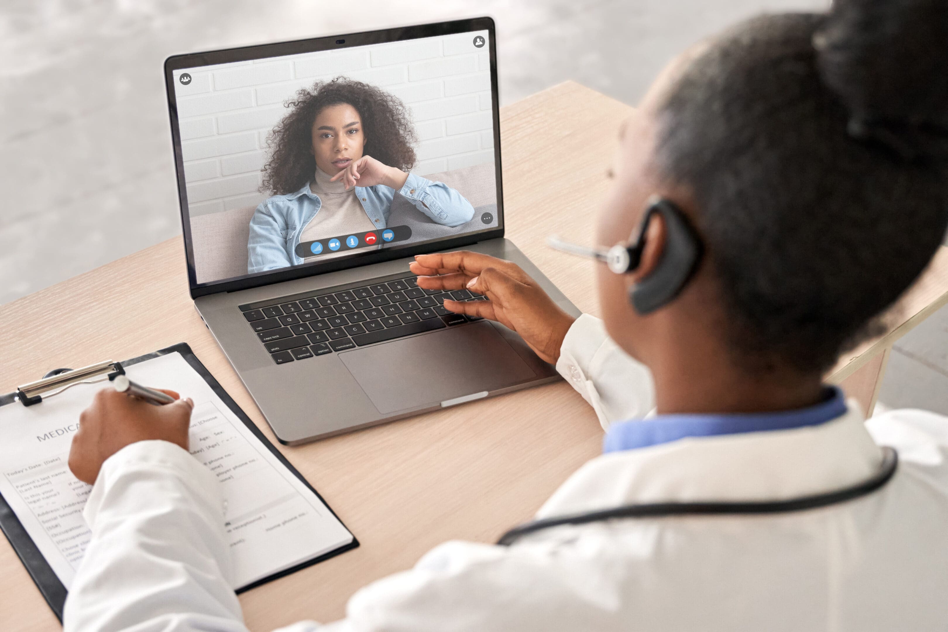
POLYGON ((895 474, 899 465, 899 453, 891 447, 883 447, 883 462, 879 470, 869 479, 851 487, 833 492, 788 498, 786 500, 760 500, 750 502, 657 502, 639 505, 624 505, 586 514, 559 515, 528 522, 515 527, 501 536, 497 544, 506 547, 518 538, 544 529, 563 525, 584 525, 619 518, 657 518, 672 515, 767 515, 787 512, 802 512, 820 509, 855 498, 864 497, 880 489, 895 474))

